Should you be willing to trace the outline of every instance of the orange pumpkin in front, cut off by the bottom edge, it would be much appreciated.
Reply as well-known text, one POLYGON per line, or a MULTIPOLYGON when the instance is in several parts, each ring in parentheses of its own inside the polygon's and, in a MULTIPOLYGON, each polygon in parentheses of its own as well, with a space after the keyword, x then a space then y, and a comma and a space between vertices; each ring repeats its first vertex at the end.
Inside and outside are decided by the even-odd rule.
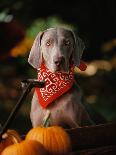
POLYGON ((47 155, 47 152, 37 141, 23 140, 5 148, 1 155, 47 155))

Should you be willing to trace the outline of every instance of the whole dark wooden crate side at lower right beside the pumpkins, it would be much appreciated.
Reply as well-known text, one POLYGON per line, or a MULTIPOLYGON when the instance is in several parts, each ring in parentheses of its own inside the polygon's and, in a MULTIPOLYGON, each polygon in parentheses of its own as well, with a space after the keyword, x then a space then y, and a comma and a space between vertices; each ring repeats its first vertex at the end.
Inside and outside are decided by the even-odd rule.
POLYGON ((116 155, 116 123, 66 130, 71 137, 72 155, 116 155))

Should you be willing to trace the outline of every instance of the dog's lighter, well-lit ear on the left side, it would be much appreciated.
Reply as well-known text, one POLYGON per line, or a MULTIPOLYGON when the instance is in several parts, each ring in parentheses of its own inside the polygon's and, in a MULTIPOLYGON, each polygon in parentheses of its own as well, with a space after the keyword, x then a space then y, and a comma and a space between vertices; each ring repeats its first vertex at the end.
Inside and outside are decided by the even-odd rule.
POLYGON ((29 64, 36 69, 38 69, 42 63, 41 39, 43 34, 44 32, 39 32, 36 36, 28 58, 29 64))

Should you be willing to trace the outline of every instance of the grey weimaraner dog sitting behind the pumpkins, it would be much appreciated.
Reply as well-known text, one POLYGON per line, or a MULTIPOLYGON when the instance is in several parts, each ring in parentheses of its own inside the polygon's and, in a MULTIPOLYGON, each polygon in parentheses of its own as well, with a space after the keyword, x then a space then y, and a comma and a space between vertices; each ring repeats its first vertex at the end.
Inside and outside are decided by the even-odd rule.
MULTIPOLYGON (((84 50, 84 43, 79 37, 65 28, 50 28, 40 32, 30 51, 28 62, 37 70, 44 63, 52 73, 69 73, 70 63, 79 66, 84 50)), ((31 121, 33 127, 40 125, 49 110, 50 124, 63 127, 79 127, 91 124, 91 119, 81 103, 81 91, 76 82, 52 104, 43 108, 34 92, 31 105, 31 121)))

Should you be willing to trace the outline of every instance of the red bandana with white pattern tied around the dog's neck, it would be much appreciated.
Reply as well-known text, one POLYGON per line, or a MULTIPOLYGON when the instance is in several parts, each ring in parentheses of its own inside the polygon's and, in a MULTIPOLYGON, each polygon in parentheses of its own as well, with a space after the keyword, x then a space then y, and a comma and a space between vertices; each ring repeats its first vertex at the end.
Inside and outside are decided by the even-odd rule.
MULTIPOLYGON (((84 71, 86 65, 81 62, 80 70, 84 71)), ((42 64, 38 69, 38 80, 45 81, 44 88, 35 88, 39 103, 43 108, 46 108, 59 96, 67 92, 74 83, 74 67, 71 68, 69 73, 52 73, 45 65, 42 64)))

